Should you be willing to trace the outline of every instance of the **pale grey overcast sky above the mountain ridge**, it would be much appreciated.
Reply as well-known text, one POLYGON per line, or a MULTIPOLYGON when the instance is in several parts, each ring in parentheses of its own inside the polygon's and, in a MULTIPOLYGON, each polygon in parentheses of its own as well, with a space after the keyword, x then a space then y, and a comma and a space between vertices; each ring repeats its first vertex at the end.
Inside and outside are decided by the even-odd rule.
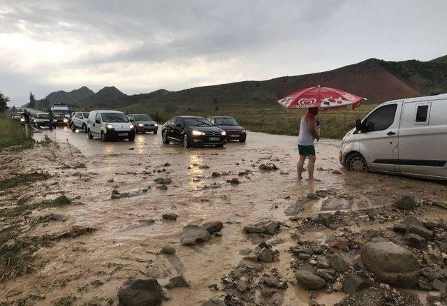
POLYGON ((446 14, 446 0, 0 0, 0 91, 22 105, 425 61, 447 54, 446 14))

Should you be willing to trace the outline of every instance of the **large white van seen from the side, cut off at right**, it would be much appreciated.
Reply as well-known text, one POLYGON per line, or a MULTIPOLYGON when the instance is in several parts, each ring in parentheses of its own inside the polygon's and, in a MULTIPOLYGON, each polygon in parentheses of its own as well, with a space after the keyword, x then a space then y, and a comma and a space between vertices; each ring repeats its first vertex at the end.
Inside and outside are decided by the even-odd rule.
POLYGON ((447 180, 447 94, 382 103, 343 138, 346 169, 447 180))

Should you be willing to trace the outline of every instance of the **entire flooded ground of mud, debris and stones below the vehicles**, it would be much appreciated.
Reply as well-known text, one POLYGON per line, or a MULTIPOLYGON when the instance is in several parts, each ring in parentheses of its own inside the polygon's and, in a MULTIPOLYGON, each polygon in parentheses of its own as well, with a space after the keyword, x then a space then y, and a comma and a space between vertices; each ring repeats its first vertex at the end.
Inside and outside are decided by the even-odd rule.
POLYGON ((309 184, 295 178, 288 136, 184 150, 152 135, 54 133, 57 145, 0 156, 6 305, 132 305, 129 279, 163 305, 418 305, 423 290, 444 290, 445 185, 345 173, 337 141, 318 143, 322 182, 309 184), (416 202, 393 205, 404 196, 416 202), (408 250, 390 279, 410 277, 379 279, 389 271, 362 261, 367 242, 367 254, 393 248, 382 242, 408 250))

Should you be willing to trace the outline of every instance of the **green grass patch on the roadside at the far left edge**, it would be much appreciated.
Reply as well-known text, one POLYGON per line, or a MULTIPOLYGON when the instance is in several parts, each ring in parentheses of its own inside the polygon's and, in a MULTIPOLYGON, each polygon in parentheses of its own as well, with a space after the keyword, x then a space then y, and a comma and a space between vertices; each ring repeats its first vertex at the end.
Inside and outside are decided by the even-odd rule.
POLYGON ((20 146, 21 149, 31 147, 32 138, 26 138, 24 127, 10 119, 8 112, 0 113, 0 151, 6 147, 20 146))

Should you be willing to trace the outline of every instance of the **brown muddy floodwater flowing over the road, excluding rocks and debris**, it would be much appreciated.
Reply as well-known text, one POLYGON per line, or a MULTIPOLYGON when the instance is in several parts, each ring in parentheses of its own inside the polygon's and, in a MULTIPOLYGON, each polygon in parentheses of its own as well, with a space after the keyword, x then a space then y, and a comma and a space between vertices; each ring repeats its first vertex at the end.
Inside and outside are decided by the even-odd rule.
MULTIPOLYGON (((42 139, 45 133, 36 134, 36 139, 42 139)), ((50 305, 58 298, 75 296, 75 305, 118 305, 117 289, 129 277, 156 277, 163 285, 170 277, 183 274, 191 288, 168 290, 170 300, 163 305, 200 305, 224 293, 211 291, 208 286, 218 284, 221 288, 221 277, 228 275, 243 257, 238 254, 240 249, 253 249, 259 243, 244 234, 243 226, 268 218, 284 222, 281 232, 270 239, 282 238, 284 243, 275 246, 280 252, 279 261, 263 264, 264 270, 278 268, 288 280, 282 305, 307 305, 308 291, 296 284, 290 268, 288 247, 295 243, 291 233, 297 225, 284 213, 297 198, 316 190, 331 190, 330 196, 310 201, 300 212, 300 216, 315 216, 322 211, 390 205, 405 194, 429 201, 446 196, 446 187, 434 182, 344 170, 342 174, 332 173, 332 169, 342 168, 338 161, 339 140, 317 143, 316 167, 323 169, 316 170, 316 178, 321 182, 309 184, 296 180, 298 152, 296 138, 291 136, 249 133, 245 144, 229 143, 223 149, 184 149, 163 145, 161 136, 152 134, 138 134, 135 143, 102 143, 68 129, 48 135, 59 147, 27 150, 20 163, 10 164, 10 172, 32 168, 48 171, 52 177, 1 194, 1 206, 11 205, 20 195, 40 201, 65 194, 83 205, 32 211, 31 218, 54 212, 63 214, 66 221, 38 224, 30 227, 27 235, 61 233, 72 226, 91 226, 97 231, 39 249, 32 274, 0 283, 0 301, 7 303, 31 296, 29 305, 50 305), (275 163, 279 170, 263 172, 258 168, 268 162, 275 163), (163 166, 165 163, 170 166, 163 166), (251 173, 238 175, 244 170, 251 173), (212 177, 213 172, 227 174, 212 177), (167 190, 157 188, 157 177, 172 180, 167 190), (227 182, 233 177, 240 184, 227 182), (145 187, 150 188, 141 192, 145 187), (129 198, 112 199, 113 189, 135 193, 129 198), (167 212, 177 214, 177 221, 161 219, 167 212), (147 221, 150 219, 154 223, 147 221), (221 237, 194 247, 180 245, 184 225, 212 220, 223 221, 221 237), (165 245, 175 247, 176 254, 159 254, 165 245)), ((356 220, 352 222, 355 227, 356 220)), ((330 232, 319 229, 305 238, 325 242, 330 232)), ((321 292, 316 293, 316 300, 332 305, 343 296, 321 292)))

